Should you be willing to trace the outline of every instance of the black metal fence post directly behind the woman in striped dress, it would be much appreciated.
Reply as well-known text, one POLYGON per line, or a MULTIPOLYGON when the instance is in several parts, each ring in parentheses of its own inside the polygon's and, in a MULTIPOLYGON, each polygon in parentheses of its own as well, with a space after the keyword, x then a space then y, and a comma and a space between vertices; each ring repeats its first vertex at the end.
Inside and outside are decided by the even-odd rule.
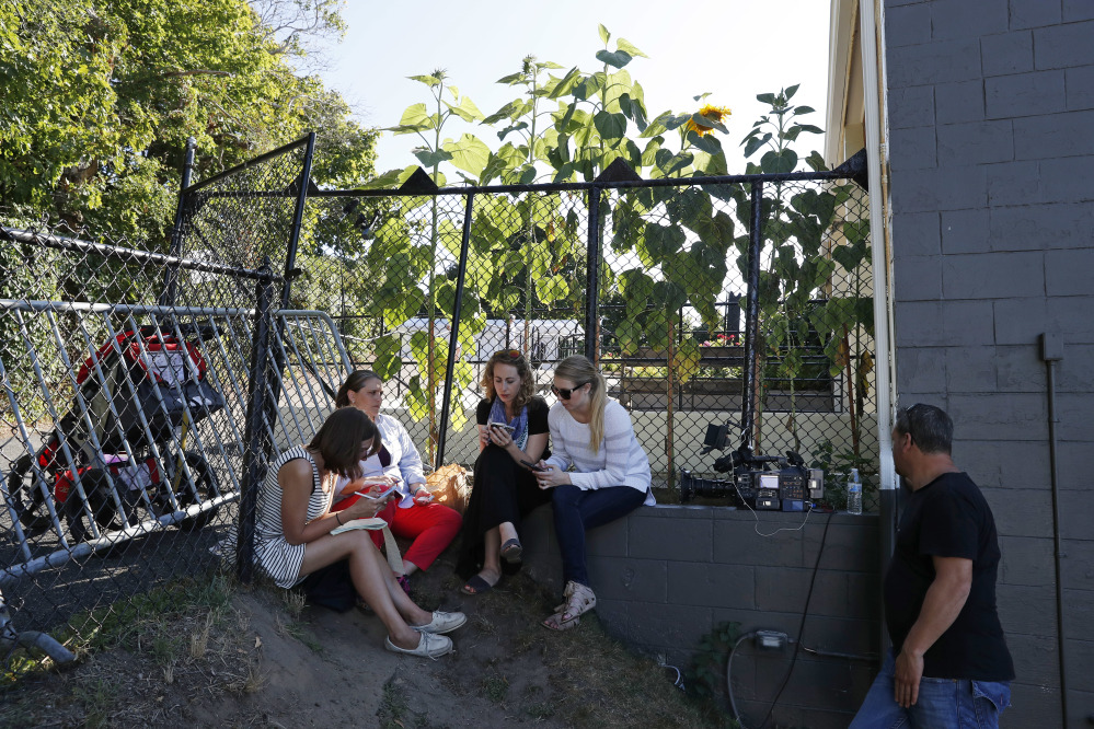
MULTIPOLYGON (((243 432, 243 483, 240 494, 239 533, 235 543, 235 569, 243 583, 254 572, 254 523, 258 506, 258 489, 266 479, 266 467, 273 443, 263 420, 269 408, 266 403, 266 375, 269 372, 269 332, 273 325, 274 280, 267 256, 260 270, 270 274, 257 284, 254 312, 254 336, 251 345, 251 373, 247 386, 246 424, 243 432)), ((276 407, 276 403, 274 403, 276 407)))

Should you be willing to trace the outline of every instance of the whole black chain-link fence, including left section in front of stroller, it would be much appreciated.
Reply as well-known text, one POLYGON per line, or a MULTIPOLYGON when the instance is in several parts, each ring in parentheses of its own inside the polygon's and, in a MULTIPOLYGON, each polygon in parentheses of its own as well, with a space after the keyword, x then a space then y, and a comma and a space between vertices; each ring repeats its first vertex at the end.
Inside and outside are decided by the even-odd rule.
MULTIPOLYGON (((853 170, 324 190, 306 138, 184 190, 168 251, 0 230, 0 649, 88 636, 125 599, 250 548, 269 458, 356 367, 427 462, 470 464, 479 382, 526 352, 599 362, 660 500, 701 453, 877 470, 866 195, 853 170)), ((837 502, 838 499, 837 499, 837 502)), ((244 555, 245 557, 245 555, 244 555)), ((250 559, 239 560, 249 579, 250 559)))

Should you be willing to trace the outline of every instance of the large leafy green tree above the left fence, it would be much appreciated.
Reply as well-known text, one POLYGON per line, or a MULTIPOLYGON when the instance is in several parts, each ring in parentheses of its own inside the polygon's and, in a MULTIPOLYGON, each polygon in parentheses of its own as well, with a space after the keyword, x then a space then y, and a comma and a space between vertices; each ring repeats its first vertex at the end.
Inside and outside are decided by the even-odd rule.
MULTIPOLYGON (((319 8, 341 27, 330 2, 319 8)), ((316 175, 360 184, 377 132, 293 73, 302 32, 278 34, 244 0, 4 3, 0 198, 15 215, 162 247, 187 137, 201 178, 309 129, 320 132, 316 175)))

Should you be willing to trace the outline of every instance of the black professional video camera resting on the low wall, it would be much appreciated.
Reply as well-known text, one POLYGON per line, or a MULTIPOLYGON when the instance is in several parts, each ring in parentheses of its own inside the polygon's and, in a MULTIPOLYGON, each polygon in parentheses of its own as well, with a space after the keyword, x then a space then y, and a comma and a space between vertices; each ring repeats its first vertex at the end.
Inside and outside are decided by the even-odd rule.
MULTIPOLYGON (((728 426, 711 425, 706 429, 702 454, 722 450, 728 426)), ((681 470, 680 500, 692 496, 730 497, 737 506, 757 510, 803 511, 808 500, 824 497, 824 472, 807 468, 805 460, 794 451, 785 455, 756 455, 741 444, 714 461, 714 471, 726 478, 701 478, 681 470)))

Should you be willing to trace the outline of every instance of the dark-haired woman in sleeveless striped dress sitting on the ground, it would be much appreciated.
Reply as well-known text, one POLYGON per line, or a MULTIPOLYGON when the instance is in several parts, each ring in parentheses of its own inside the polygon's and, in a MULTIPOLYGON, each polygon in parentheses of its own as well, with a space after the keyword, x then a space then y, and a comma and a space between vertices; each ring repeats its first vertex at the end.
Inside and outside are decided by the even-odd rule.
POLYGON ((319 570, 346 562, 357 593, 388 628, 388 650, 412 656, 442 656, 452 649, 448 636, 467 617, 428 613, 395 581, 369 532, 331 532, 354 519, 376 516, 385 499, 359 499, 331 511, 339 475, 357 477, 359 462, 380 448, 380 433, 356 408, 335 410, 307 447, 297 445, 276 459, 258 491, 255 560, 279 587, 290 588, 319 570))

